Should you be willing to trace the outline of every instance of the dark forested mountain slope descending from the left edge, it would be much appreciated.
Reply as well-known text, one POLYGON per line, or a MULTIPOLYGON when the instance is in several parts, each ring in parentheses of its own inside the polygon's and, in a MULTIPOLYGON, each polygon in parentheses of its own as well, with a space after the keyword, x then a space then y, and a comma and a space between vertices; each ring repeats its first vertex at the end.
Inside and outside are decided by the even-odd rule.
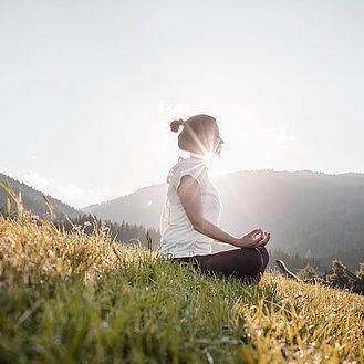
MULTIPOLYGON (((21 193, 22 202, 23 202, 23 206, 25 209, 31 210, 33 214, 41 216, 41 217, 49 214, 49 209, 48 209, 46 204, 43 198, 44 194, 38 191, 37 189, 34 189, 32 187, 29 187, 25 184, 18 181, 17 179, 13 179, 3 174, 0 174, 0 183, 4 184, 6 180, 9 181, 11 188, 14 190, 14 193, 17 195, 19 195, 19 193, 21 193)), ((8 193, 0 186, 0 209, 2 209, 3 211, 7 210, 7 198, 9 198, 8 193)), ((73 218, 73 217, 76 217, 76 216, 83 214, 83 212, 74 209, 73 207, 65 205, 62 201, 60 201, 51 196, 46 196, 46 198, 51 202, 56 218, 65 216, 65 215, 67 215, 70 218, 73 218)), ((17 207, 12 202, 12 211, 15 211, 15 210, 17 210, 17 207)))

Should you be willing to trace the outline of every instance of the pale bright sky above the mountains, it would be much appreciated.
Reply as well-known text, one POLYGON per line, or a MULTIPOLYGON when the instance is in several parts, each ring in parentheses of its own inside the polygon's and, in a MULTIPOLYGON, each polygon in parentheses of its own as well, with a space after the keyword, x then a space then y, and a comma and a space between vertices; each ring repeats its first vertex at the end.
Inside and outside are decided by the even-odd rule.
POLYGON ((82 208, 164 183, 174 118, 211 173, 364 173, 361 0, 0 0, 0 173, 82 208))

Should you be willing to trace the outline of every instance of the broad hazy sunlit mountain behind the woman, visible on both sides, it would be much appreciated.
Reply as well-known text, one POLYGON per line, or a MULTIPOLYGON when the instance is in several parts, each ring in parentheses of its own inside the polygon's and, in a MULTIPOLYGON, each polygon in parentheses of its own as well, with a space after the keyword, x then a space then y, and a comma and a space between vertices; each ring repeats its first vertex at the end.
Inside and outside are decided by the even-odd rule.
MULTIPOLYGON (((236 171, 211 181, 221 198, 220 226, 231 233, 259 226, 271 231, 270 248, 343 259, 352 269, 364 261, 363 174, 236 171)), ((85 211, 157 228, 166 190, 146 187, 85 211)))

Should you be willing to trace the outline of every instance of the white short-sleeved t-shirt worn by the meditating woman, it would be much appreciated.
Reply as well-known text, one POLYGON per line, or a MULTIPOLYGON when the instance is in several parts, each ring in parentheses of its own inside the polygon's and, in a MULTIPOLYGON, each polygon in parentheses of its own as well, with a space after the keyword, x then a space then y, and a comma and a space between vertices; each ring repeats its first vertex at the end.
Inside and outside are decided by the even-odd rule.
POLYGON ((169 188, 160 218, 160 252, 164 257, 183 258, 211 253, 214 239, 194 229, 177 194, 181 177, 188 175, 201 187, 204 217, 215 225, 219 222, 220 199, 208 179, 206 162, 199 158, 179 158, 167 178, 169 188))

